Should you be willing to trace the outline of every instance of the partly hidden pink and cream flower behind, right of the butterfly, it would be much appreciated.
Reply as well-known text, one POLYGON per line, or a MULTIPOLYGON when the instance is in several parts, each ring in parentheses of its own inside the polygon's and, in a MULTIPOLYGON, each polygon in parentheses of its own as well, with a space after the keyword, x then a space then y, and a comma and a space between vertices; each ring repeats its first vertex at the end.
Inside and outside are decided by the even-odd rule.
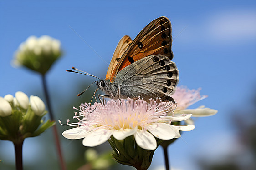
MULTIPOLYGON (((174 100, 178 103, 177 108, 175 109, 175 114, 192 114, 192 117, 205 117, 215 115, 218 110, 205 108, 205 106, 200 106, 196 109, 187 109, 190 105, 203 100, 207 95, 200 95, 200 89, 190 90, 186 87, 177 87, 174 95, 172 95, 174 100)), ((193 124, 192 119, 185 120, 189 125, 193 124)))

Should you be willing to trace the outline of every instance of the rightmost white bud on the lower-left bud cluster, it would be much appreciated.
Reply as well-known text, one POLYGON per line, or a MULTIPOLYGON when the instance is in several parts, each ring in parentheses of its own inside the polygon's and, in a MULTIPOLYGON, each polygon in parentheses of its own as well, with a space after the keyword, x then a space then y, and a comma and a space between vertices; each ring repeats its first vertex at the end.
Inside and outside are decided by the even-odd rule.
POLYGON ((38 116, 41 116, 45 111, 45 104, 44 102, 38 97, 31 95, 29 97, 31 109, 34 111, 34 113, 38 116))

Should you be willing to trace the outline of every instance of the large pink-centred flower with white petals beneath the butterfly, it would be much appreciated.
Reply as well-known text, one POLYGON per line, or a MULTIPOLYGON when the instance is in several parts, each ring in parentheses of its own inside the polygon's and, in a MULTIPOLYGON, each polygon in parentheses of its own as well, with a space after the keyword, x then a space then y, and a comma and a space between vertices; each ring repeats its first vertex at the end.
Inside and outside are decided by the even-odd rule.
MULTIPOLYGON (((106 142, 111 135, 117 140, 134 135, 138 146, 146 150, 154 150, 157 147, 155 137, 162 140, 179 138, 179 130, 190 131, 195 128, 194 125, 170 125, 171 121, 186 120, 192 115, 167 115, 175 107, 172 102, 157 103, 151 100, 147 103, 130 98, 121 99, 121 102, 110 100, 107 105, 95 103, 90 106, 85 103, 80 106, 79 114, 75 112, 74 118, 79 122, 68 124, 69 120, 67 121, 67 125, 79 127, 66 130, 62 135, 68 139, 84 138, 83 145, 91 147, 106 142)), ((61 123, 60 120, 59 122, 61 123)))

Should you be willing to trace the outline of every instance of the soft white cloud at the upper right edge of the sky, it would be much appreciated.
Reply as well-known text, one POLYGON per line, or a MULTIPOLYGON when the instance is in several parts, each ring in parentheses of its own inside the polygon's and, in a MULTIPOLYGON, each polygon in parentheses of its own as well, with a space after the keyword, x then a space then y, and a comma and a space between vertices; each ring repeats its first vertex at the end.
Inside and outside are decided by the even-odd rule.
POLYGON ((256 11, 220 11, 207 20, 206 29, 212 38, 217 40, 255 39, 256 11))

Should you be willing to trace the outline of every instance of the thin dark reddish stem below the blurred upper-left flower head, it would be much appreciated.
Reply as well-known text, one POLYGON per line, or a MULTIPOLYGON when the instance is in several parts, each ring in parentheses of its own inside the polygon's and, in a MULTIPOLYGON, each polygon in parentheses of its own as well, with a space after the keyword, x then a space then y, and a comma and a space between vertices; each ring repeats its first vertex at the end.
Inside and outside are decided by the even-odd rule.
MULTIPOLYGON (((46 76, 45 74, 42 74, 42 82, 43 82, 43 88, 44 88, 44 93, 45 93, 45 97, 46 97, 46 105, 50 114, 50 118, 51 120, 55 120, 54 119, 54 115, 53 112, 51 110, 51 102, 50 102, 50 97, 49 97, 49 92, 47 89, 47 85, 46 85, 46 76)), ((57 154, 58 154, 58 158, 59 158, 59 164, 61 166, 61 170, 67 170, 66 165, 64 163, 62 154, 61 154, 61 145, 60 145, 60 140, 59 140, 59 135, 58 135, 58 131, 57 131, 57 127, 56 125, 53 126, 53 135, 55 138, 55 145, 57 148, 57 154)))

